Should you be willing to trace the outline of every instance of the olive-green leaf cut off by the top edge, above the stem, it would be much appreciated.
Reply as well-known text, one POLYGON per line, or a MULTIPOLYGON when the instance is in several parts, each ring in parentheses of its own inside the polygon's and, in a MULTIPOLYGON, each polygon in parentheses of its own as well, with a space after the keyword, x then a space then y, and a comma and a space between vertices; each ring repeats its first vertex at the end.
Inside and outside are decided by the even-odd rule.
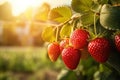
POLYGON ((93 0, 72 0, 72 9, 79 13, 90 11, 93 5, 93 0))

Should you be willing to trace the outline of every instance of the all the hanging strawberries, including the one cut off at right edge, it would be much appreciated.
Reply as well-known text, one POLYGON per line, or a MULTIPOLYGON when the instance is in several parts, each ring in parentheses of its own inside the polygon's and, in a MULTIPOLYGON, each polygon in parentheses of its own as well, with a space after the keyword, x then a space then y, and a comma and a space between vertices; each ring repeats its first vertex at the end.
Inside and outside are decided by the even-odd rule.
MULTIPOLYGON (((120 35, 115 36, 115 44, 120 51, 120 35)), ((89 41, 89 33, 84 29, 76 29, 70 35, 70 38, 62 40, 60 43, 53 42, 48 45, 48 56, 55 62, 61 55, 64 64, 70 69, 77 68, 82 51, 87 48, 88 53, 99 63, 108 60, 111 45, 108 39, 104 37, 95 38, 89 41)))

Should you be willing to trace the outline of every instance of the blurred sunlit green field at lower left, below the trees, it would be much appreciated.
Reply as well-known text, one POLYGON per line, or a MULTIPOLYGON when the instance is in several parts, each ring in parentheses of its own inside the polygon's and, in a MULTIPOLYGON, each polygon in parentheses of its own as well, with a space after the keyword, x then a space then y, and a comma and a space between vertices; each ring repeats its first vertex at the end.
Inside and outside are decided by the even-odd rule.
POLYGON ((60 64, 51 63, 44 47, 0 48, 0 80, 56 80, 60 64))

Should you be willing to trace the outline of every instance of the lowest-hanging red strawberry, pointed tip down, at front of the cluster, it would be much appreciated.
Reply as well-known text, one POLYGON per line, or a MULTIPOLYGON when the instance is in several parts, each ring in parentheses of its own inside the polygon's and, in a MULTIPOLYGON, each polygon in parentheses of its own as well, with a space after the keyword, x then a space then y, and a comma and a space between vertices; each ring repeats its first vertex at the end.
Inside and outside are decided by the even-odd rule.
POLYGON ((80 50, 74 49, 73 47, 67 47, 62 51, 62 60, 70 70, 74 70, 77 68, 80 57, 80 50))

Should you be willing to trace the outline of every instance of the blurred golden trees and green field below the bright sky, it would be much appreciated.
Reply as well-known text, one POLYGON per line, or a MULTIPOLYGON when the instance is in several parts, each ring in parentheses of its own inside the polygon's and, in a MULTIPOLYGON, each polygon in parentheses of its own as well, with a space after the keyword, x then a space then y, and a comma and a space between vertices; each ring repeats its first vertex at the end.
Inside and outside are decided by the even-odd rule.
POLYGON ((14 16, 0 1, 0 80, 57 80, 63 65, 49 60, 41 37, 50 8, 43 3, 14 16))

